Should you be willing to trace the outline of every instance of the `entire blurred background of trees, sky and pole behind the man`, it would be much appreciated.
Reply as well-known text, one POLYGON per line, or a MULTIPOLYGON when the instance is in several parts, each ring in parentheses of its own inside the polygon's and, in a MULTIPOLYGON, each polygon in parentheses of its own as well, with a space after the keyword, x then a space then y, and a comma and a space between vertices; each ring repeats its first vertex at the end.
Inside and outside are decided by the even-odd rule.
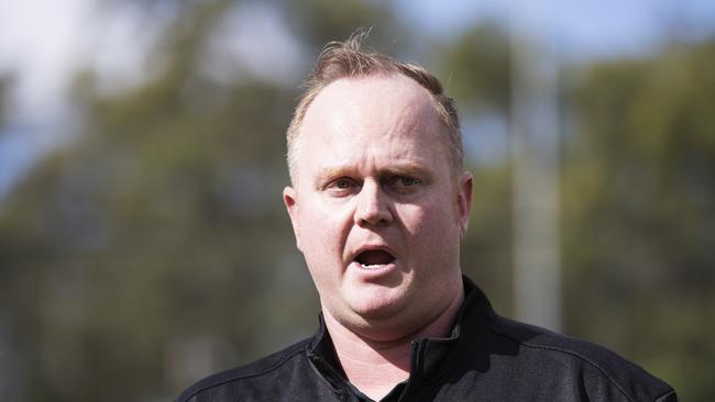
POLYGON ((284 133, 359 26, 460 105, 462 266, 495 309, 715 400, 715 5, 694 0, 0 3, 0 400, 172 400, 312 334, 284 133))

